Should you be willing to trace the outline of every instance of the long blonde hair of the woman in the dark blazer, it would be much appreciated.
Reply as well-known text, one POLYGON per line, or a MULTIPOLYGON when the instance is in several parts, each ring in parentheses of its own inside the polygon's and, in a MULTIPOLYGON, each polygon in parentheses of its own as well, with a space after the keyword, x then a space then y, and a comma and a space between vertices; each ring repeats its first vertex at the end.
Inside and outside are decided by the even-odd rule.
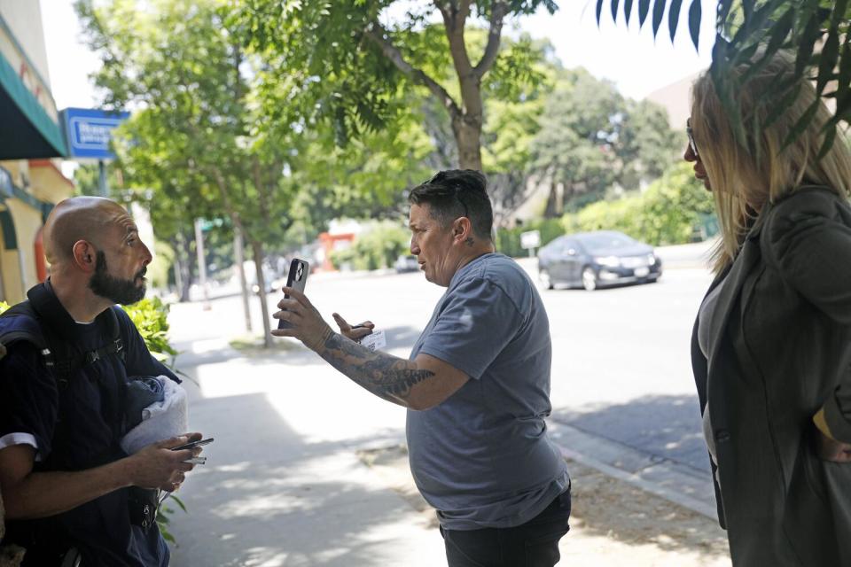
MULTIPOLYGON (((816 101, 816 89, 806 78, 800 79, 795 102, 773 124, 748 131, 753 130, 750 125, 754 118, 762 125, 769 115, 769 107, 762 104, 768 89, 776 89, 777 79, 790 77, 793 71, 794 59, 778 52, 733 93, 745 121, 747 147, 738 142, 708 71, 692 88, 692 135, 707 170, 721 227, 721 241, 712 254, 715 274, 735 260, 753 218, 766 203, 775 203, 806 185, 824 185, 839 195, 851 196, 851 150, 841 131, 827 155, 818 159, 823 128, 832 116, 823 101, 807 128, 791 144, 783 145, 800 117, 816 101)), ((744 72, 739 67, 734 73, 741 77, 744 72)))

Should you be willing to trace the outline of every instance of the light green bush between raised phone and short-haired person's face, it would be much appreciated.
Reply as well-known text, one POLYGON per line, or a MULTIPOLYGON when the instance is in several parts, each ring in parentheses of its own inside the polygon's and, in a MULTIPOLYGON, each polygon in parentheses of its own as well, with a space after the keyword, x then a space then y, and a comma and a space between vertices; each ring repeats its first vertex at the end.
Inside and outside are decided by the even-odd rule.
POLYGON ((351 247, 332 252, 331 261, 338 269, 346 264, 353 269, 390 268, 396 258, 408 253, 409 249, 408 229, 395 222, 382 221, 356 237, 351 247))

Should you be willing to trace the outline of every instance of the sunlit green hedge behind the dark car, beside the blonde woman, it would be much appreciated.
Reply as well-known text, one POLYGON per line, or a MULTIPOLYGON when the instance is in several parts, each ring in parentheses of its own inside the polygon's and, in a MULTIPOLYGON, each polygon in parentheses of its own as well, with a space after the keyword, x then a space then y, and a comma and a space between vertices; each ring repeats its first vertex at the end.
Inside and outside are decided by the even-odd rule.
POLYGON ((712 195, 683 162, 644 193, 594 203, 566 214, 562 223, 566 232, 620 230, 650 245, 677 245, 694 241, 701 226, 712 224, 713 214, 712 195))

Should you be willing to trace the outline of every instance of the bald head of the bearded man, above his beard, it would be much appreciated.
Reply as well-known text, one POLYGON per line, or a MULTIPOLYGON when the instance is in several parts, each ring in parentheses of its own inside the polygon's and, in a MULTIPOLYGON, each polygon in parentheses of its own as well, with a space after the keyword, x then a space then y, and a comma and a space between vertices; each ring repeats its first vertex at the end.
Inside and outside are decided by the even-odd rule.
POLYGON ((124 207, 102 197, 66 198, 53 207, 44 223, 44 252, 51 264, 74 257, 74 244, 81 240, 98 247, 117 226, 129 221, 124 207))

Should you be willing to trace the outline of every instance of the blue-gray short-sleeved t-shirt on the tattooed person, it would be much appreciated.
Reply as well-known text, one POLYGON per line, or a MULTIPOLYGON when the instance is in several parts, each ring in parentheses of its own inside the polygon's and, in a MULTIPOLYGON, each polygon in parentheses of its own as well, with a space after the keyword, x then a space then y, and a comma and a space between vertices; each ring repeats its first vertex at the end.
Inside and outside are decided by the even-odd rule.
POLYGON ((408 410, 410 470, 449 530, 504 528, 537 516, 568 485, 547 435, 550 322, 514 260, 485 254, 459 269, 410 353, 471 379, 439 406, 408 410))

